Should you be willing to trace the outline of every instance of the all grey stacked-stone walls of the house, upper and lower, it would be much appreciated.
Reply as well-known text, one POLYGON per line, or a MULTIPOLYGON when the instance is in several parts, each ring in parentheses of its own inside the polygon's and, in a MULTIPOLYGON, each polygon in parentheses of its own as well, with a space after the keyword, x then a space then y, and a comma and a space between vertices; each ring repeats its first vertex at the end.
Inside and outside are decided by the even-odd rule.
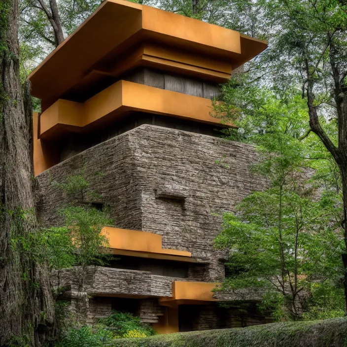
MULTIPOLYGON (((55 183, 83 174, 89 182, 86 193, 98 194, 95 200, 88 199, 108 205, 115 226, 160 234, 163 248, 189 251, 197 262, 188 264, 186 278, 91 267, 82 304, 76 294, 76 269, 60 271, 59 283, 57 274, 52 282, 69 287, 71 311, 79 302, 90 321, 110 314, 112 297, 134 296, 142 298, 141 319, 156 322, 165 311, 158 298, 173 296, 174 280, 222 281, 227 255, 213 249, 213 239, 221 231, 223 212, 235 211, 245 196, 266 187, 265 179, 251 171, 256 161, 254 148, 243 143, 141 125, 39 174, 36 200, 42 225, 61 225, 57 211, 73 199, 55 183)), ((225 325, 218 320, 215 304, 199 310, 194 330, 225 325)))

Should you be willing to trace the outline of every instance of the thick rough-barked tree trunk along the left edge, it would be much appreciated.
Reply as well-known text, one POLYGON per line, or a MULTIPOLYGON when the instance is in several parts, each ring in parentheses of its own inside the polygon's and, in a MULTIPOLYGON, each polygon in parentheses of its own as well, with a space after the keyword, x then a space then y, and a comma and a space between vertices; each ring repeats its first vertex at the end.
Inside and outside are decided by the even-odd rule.
POLYGON ((41 346, 55 333, 54 301, 46 264, 25 249, 38 227, 31 103, 26 98, 25 110, 19 78, 18 0, 2 0, 0 11, 0 346, 11 339, 41 346))

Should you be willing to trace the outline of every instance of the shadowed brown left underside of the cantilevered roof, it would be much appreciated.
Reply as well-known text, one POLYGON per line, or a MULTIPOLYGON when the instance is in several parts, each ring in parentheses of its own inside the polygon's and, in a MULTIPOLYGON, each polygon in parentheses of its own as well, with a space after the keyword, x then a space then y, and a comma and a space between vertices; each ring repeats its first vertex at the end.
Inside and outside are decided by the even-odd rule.
POLYGON ((62 96, 101 58, 141 29, 141 5, 104 1, 30 74, 32 95, 62 96))

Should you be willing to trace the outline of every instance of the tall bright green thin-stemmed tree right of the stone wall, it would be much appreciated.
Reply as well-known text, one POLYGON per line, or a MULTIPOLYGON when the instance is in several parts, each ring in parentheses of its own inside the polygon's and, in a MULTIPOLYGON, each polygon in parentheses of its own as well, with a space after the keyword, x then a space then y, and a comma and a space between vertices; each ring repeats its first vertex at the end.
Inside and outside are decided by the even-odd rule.
POLYGON ((215 240, 230 251, 223 289, 261 287, 277 318, 299 319, 313 284, 329 281, 338 293, 343 273, 341 195, 325 172, 331 157, 312 146, 306 105, 295 90, 279 100, 255 86, 240 98, 238 89, 244 91, 226 87, 221 107, 239 117, 231 138, 257 144, 262 159, 254 170, 267 177, 269 189, 246 197, 236 215, 224 215, 215 240))

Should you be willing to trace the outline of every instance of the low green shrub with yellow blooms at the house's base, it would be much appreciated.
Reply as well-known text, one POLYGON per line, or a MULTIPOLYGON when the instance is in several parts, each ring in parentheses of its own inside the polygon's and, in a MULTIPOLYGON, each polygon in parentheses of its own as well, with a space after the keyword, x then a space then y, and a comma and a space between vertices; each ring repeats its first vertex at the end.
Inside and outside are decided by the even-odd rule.
POLYGON ((104 329, 112 331, 115 336, 120 337, 143 337, 140 335, 155 335, 155 331, 150 325, 142 323, 138 316, 134 316, 128 312, 114 311, 110 316, 99 319, 99 324, 104 329))

